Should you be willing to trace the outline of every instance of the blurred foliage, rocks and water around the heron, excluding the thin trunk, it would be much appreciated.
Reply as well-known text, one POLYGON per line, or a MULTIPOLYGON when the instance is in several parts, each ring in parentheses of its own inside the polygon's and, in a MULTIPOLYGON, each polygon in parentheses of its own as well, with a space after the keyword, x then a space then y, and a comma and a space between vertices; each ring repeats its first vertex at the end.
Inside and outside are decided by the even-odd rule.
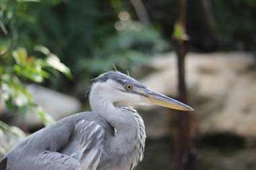
MULTIPOLYGON (((193 169, 256 169, 256 1, 194 0, 186 11, 193 169)), ((177 13, 177 0, 1 0, 0 158, 28 134, 90 110, 86 91, 105 71, 178 98, 177 13)), ((136 109, 148 137, 137 169, 174 169, 179 113, 136 109)))

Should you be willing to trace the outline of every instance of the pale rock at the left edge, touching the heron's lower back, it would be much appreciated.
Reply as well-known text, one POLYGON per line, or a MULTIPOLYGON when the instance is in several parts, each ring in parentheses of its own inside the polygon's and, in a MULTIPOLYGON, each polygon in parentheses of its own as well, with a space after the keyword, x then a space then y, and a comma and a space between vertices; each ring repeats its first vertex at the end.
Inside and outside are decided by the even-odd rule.
POLYGON ((8 126, 0 121, 0 160, 26 134, 15 126, 8 126))

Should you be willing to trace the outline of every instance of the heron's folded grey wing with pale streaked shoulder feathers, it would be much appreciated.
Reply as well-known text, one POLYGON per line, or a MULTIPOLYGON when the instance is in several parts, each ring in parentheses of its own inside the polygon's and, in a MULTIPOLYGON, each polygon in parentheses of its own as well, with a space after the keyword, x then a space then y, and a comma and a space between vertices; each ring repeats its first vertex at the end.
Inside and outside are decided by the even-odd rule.
POLYGON ((69 116, 16 144, 0 161, 0 167, 95 170, 104 156, 103 126, 104 121, 92 112, 69 116))

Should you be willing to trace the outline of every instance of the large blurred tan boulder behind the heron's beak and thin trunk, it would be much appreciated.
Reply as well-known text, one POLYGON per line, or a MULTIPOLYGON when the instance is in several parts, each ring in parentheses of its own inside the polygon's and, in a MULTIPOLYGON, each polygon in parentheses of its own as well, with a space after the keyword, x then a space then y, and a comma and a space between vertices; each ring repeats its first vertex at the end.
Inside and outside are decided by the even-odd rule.
MULTIPOLYGON (((193 125, 197 133, 231 132, 245 137, 256 136, 256 71, 253 70, 256 65, 253 54, 189 53, 185 64, 189 105, 195 109, 193 125)), ((155 91, 177 96, 174 53, 152 58, 150 67, 158 71, 140 81, 155 91)), ((147 115, 142 116, 146 118, 147 115)), ((166 114, 159 113, 154 117, 168 120, 166 114)), ((149 127, 152 121, 156 120, 148 122, 146 119, 146 126, 149 127)), ((170 133, 168 122, 159 126, 166 127, 161 134, 170 133)), ((154 131, 148 132, 148 136, 157 137, 154 131)))

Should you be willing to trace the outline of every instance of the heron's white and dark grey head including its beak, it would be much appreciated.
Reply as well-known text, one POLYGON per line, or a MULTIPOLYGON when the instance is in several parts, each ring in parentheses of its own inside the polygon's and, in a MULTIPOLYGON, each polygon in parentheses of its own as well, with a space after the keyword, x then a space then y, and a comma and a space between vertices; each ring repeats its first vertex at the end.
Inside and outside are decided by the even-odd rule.
POLYGON ((90 92, 90 101, 95 96, 98 99, 108 99, 114 104, 161 105, 176 110, 193 111, 189 105, 152 91, 139 81, 118 71, 104 73, 95 79, 90 92))

